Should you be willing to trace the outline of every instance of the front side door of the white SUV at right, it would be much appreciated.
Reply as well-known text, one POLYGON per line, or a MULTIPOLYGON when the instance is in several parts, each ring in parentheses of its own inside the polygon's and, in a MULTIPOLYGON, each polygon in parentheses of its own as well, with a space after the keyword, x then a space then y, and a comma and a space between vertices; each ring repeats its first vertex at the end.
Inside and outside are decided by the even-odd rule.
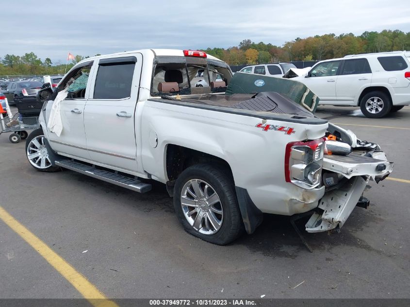
POLYGON ((301 80, 319 97, 319 104, 334 104, 340 63, 341 61, 319 63, 311 69, 309 77, 301 80))

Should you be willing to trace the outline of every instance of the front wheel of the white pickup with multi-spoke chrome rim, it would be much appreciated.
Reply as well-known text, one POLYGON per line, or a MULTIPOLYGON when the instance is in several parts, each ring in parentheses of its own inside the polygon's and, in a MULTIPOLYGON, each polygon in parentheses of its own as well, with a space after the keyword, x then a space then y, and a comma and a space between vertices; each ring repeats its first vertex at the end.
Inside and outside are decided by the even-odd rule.
POLYGON ((31 166, 39 172, 57 172, 59 166, 52 165, 49 152, 44 141, 43 129, 35 129, 26 140, 26 156, 31 166))

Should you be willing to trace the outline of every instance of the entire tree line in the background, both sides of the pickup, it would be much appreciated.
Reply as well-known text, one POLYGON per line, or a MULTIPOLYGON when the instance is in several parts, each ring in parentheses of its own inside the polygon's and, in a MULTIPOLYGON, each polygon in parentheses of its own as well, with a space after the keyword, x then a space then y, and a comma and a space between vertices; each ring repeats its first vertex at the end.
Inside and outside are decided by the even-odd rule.
MULTIPOLYGON (((297 37, 285 42, 283 46, 270 43, 255 43, 244 39, 238 46, 230 48, 204 49, 229 65, 261 64, 291 61, 321 61, 340 58, 346 54, 410 50, 410 32, 383 30, 381 32, 334 33, 315 35, 306 38, 297 37)), ((96 54, 99 55, 99 54, 96 54)), ((67 65, 67 71, 76 63, 88 58, 76 55, 67 65)), ((52 63, 50 58, 42 61, 34 52, 23 56, 6 54, 0 63, 0 75, 56 75, 64 74, 65 63, 52 63)))

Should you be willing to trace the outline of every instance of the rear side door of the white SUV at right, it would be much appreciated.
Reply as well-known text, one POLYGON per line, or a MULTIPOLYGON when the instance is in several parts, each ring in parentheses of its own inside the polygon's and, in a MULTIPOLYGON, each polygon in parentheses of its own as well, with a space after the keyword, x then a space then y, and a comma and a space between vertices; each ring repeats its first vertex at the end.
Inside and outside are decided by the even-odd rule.
POLYGON ((372 70, 367 59, 344 60, 336 81, 336 96, 339 104, 353 105, 363 88, 370 85, 372 70))

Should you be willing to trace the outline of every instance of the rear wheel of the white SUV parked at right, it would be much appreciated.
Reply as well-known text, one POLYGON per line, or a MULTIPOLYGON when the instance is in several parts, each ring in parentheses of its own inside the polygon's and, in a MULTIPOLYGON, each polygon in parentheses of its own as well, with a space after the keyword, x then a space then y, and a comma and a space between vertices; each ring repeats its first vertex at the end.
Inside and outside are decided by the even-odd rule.
POLYGON ((385 93, 373 91, 361 98, 360 109, 361 113, 368 118, 381 118, 390 112, 392 102, 385 93))

